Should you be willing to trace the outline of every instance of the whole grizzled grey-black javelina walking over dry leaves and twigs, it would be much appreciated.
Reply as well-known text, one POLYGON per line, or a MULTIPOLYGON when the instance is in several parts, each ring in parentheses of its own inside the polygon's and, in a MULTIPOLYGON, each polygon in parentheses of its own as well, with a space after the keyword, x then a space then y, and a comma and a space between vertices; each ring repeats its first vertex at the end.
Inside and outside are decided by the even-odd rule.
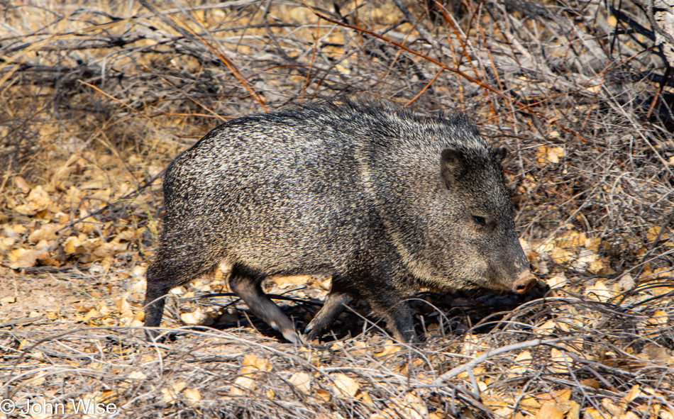
POLYGON ((265 276, 332 275, 308 340, 354 297, 411 342, 405 299, 421 287, 523 293, 535 279, 504 155, 465 116, 390 102, 324 101, 220 125, 167 168, 145 325, 160 324, 160 297, 223 261, 234 294, 291 342, 302 338, 261 289, 265 276))

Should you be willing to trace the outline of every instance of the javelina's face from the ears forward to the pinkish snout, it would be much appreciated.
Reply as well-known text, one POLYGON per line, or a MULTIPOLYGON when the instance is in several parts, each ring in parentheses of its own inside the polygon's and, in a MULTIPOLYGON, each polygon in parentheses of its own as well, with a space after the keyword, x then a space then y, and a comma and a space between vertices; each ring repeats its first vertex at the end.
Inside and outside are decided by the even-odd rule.
MULTIPOLYGON (((439 267, 452 272, 458 288, 485 286, 524 293, 536 279, 516 235, 512 203, 503 179, 503 147, 480 150, 447 147, 440 153, 445 186, 437 233, 455 240, 451 262, 439 267)), ((442 197, 441 197, 442 200, 442 197)))

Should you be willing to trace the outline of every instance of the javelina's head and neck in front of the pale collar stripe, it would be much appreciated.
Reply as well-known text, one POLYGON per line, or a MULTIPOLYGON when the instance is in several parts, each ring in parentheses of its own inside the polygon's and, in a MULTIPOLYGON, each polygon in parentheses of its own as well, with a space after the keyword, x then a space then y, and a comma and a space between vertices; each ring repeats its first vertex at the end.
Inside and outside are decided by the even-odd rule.
POLYGON ((408 269, 436 289, 528 291, 536 279, 516 235, 506 150, 491 147, 463 116, 422 122, 401 141, 403 168, 390 173, 394 185, 382 195, 408 269))

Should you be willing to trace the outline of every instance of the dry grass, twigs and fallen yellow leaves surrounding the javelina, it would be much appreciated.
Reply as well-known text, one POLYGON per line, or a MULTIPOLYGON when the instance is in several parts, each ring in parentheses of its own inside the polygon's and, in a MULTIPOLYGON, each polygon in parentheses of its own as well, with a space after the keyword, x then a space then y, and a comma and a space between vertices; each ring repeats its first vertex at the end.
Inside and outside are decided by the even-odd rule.
MULTIPOLYGON (((0 4, 1 398, 128 418, 674 418, 674 91, 646 16, 313 6, 0 4), (140 339, 162 168, 223 121, 340 94, 463 111, 509 147, 538 289, 422 293, 412 346, 360 303, 298 348, 209 297, 219 273, 167 305, 175 341, 140 339)), ((298 300, 325 286, 267 290, 301 327, 298 300)))

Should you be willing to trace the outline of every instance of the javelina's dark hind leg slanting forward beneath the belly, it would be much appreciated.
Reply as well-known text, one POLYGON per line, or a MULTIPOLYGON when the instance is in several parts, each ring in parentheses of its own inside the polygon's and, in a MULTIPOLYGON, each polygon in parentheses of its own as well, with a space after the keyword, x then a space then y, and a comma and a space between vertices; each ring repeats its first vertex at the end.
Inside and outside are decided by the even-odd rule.
POLYGON ((289 342, 302 343, 290 320, 281 309, 267 297, 260 286, 260 281, 238 272, 236 266, 229 277, 229 288, 241 298, 256 316, 278 330, 289 342))

